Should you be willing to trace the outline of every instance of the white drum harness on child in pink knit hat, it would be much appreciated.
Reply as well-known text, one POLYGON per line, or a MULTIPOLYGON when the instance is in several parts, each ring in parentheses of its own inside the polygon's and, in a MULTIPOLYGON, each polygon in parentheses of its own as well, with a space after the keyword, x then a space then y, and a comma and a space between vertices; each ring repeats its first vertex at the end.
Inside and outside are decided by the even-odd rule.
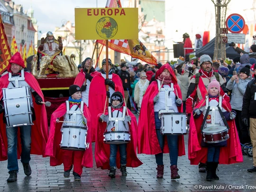
MULTIPOLYGON (((218 106, 217 106, 217 108, 218 108, 218 111, 219 111, 219 114, 220 114, 220 117, 221 117, 221 119, 223 120, 223 122, 224 122, 224 124, 227 126, 227 128, 229 129, 229 125, 228 125, 228 122, 227 122, 227 120, 226 120, 226 118, 224 117, 224 115, 223 115, 223 113, 222 113, 222 111, 221 111, 221 104, 222 104, 222 97, 219 97, 219 104, 218 104, 218 106), (220 105, 219 105, 220 104, 220 105), (220 106, 220 107, 219 107, 220 106)), ((206 123, 206 119, 207 119, 207 116, 208 116, 208 114, 209 114, 209 112, 210 111, 214 111, 214 113, 212 113, 212 114, 214 114, 213 115, 213 122, 212 122, 212 124, 214 124, 215 125, 215 108, 216 107, 214 107, 214 106, 209 106, 209 97, 206 99, 206 107, 207 107, 207 110, 206 110, 206 113, 205 113, 205 116, 204 116, 204 119, 203 119, 203 122, 202 122, 202 125, 201 125, 201 131, 204 129, 204 127, 205 127, 205 123, 206 123)))

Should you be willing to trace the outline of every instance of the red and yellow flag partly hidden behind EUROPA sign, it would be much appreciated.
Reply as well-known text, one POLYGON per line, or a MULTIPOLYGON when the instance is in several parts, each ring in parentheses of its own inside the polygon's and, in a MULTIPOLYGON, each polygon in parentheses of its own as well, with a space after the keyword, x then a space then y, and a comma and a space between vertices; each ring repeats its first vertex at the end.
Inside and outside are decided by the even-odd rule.
MULTIPOLYGON (((107 0, 106 8, 120 8, 120 0, 107 0)), ((106 40, 97 40, 98 43, 106 46, 106 40)), ((134 58, 138 58, 148 64, 156 65, 155 57, 147 50, 146 46, 138 39, 113 39, 109 40, 109 48, 131 55, 134 58)))

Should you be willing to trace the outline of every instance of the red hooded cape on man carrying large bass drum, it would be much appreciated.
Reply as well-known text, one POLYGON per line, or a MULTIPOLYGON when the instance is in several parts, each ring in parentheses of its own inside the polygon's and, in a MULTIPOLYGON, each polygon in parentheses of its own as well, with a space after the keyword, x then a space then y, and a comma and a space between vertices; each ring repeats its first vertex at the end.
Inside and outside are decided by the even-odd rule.
MULTIPOLYGON (((12 73, 11 71, 11 64, 16 64, 19 65, 22 68, 25 68, 24 65, 24 60, 22 59, 21 55, 17 52, 14 54, 9 61, 9 65, 7 67, 7 71, 9 73, 12 73)), ((2 88, 8 88, 9 86, 9 73, 3 75, 0 78, 0 89, 2 88)), ((12 75, 20 75, 20 72, 12 75)), ((36 80, 36 78, 27 72, 24 72, 24 77, 25 77, 25 82, 37 93, 37 97, 40 97, 41 101, 44 101, 44 95, 40 89, 40 86, 36 80)), ((34 93, 32 95, 34 95, 34 93)), ((0 100, 3 98, 3 92, 0 91, 0 100)), ((35 154, 35 155, 42 155, 43 157, 46 157, 45 155, 45 148, 46 148, 46 142, 48 139, 48 124, 47 124, 47 116, 46 116, 46 107, 45 105, 37 105, 35 103, 35 98, 33 97, 33 103, 34 103, 34 109, 35 109, 35 115, 36 115, 36 120, 33 122, 34 125, 31 128, 31 150, 30 154, 35 154)), ((0 115, 0 118, 3 119, 3 114, 0 115)), ((7 160, 8 158, 8 143, 7 143, 7 134, 6 134, 6 128, 5 124, 3 121, 0 121, 0 135, 1 135, 1 145, 0 145, 0 161, 7 160)), ((18 132, 18 146, 17 146, 17 158, 20 158, 21 156, 21 145, 20 145, 20 137, 19 137, 19 132, 18 132)), ((30 159, 30 157, 29 157, 30 159)), ((31 168, 30 166, 28 167, 29 164, 26 164, 26 171, 30 172, 27 174, 31 174, 31 168), (30 168, 30 170, 29 170, 30 168)), ((18 167, 18 161, 17 161, 17 167, 18 167)), ((16 168, 17 169, 17 168, 16 168)), ((16 180, 17 180, 17 173, 18 170, 16 171, 16 180)), ((24 167, 25 171, 25 167, 24 167)), ((13 172, 13 171, 12 171, 13 172)), ((26 174, 26 173, 25 173, 26 174)), ((14 182, 14 181, 13 181, 14 182)))

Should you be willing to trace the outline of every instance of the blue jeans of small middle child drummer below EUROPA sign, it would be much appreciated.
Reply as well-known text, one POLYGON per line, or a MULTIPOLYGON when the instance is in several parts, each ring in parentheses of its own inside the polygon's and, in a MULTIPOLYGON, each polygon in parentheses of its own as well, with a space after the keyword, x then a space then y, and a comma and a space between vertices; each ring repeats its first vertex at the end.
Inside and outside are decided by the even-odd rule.
POLYGON ((117 166, 116 164, 116 157, 117 157, 117 151, 118 151, 118 146, 119 146, 119 153, 120 153, 120 164, 126 165, 126 146, 127 144, 110 144, 110 167, 115 167, 117 166))

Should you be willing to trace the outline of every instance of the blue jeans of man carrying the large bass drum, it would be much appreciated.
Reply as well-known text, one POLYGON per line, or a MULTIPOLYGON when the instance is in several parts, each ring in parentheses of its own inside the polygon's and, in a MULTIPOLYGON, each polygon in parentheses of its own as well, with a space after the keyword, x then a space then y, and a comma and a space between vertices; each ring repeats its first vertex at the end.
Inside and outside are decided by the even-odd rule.
MULTIPOLYGON (((21 139, 21 163, 28 164, 31 150, 31 125, 19 127, 21 139)), ((18 172, 17 135, 18 127, 6 128, 8 143, 8 165, 10 171, 18 172)))

